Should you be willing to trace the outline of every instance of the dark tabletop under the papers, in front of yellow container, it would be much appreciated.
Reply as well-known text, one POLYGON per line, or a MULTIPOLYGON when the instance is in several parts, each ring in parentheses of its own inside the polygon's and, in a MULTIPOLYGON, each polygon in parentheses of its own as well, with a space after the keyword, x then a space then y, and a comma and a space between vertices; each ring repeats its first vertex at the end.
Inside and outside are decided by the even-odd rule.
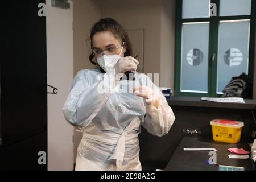
POLYGON ((244 167, 253 170, 251 159, 229 159, 228 148, 243 148, 250 151, 246 140, 237 144, 214 142, 209 137, 184 137, 164 170, 166 171, 217 171, 218 165, 205 164, 210 158, 209 151, 184 151, 183 148, 216 148, 217 164, 244 167))

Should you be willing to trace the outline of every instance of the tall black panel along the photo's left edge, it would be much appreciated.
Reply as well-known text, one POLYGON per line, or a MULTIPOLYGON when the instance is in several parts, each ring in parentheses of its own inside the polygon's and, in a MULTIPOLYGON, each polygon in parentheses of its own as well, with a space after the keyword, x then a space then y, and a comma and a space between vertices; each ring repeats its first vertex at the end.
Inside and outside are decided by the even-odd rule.
POLYGON ((46 17, 38 16, 45 1, 3 3, 0 169, 47 170, 38 163, 39 151, 47 154, 46 17))

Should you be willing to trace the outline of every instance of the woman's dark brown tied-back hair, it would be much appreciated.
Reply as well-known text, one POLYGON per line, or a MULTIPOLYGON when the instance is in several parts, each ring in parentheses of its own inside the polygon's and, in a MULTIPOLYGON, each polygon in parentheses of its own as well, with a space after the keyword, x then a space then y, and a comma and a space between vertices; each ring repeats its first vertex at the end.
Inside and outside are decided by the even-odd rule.
MULTIPOLYGON (((115 21, 112 18, 100 19, 97 23, 94 24, 94 26, 92 27, 92 29, 90 31, 90 47, 91 47, 91 49, 93 49, 93 45, 92 45, 93 36, 95 34, 97 34, 98 32, 102 32, 102 31, 110 31, 115 36, 115 38, 121 39, 122 43, 125 42, 125 44, 124 44, 124 46, 126 47, 125 57, 133 56, 133 48, 131 46, 131 42, 129 40, 128 33, 121 26, 121 24, 119 24, 117 21, 115 21)), ((93 57, 94 57, 94 55, 93 55, 93 53, 91 53, 89 56, 90 63, 96 65, 97 63, 95 63, 93 61, 93 57)), ((136 57, 138 57, 138 55, 135 56, 135 58, 136 57)), ((105 71, 102 68, 101 68, 101 72, 105 73, 105 71)))

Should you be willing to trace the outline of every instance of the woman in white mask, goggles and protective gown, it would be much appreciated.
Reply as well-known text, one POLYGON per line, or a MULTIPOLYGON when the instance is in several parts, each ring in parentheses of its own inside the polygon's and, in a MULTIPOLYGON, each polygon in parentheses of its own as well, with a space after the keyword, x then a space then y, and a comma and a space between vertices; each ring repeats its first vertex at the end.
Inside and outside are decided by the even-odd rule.
POLYGON ((163 136, 174 114, 150 78, 136 72, 139 62, 131 57, 129 37, 119 23, 101 19, 94 24, 90 41, 89 60, 98 68, 77 73, 63 107, 67 121, 83 132, 76 170, 141 170, 141 125, 163 136), (130 85, 136 85, 133 93, 125 92, 130 85))

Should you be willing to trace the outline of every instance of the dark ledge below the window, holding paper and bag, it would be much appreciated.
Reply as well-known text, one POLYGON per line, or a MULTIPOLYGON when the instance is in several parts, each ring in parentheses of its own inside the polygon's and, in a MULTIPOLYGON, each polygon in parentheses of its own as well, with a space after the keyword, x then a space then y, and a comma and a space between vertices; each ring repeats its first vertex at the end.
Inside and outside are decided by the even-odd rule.
POLYGON ((167 100, 170 106, 193 106, 193 107, 214 107, 226 109, 250 109, 256 110, 256 100, 245 99, 243 103, 220 103, 212 101, 202 101, 201 97, 181 97, 174 96, 167 100))

